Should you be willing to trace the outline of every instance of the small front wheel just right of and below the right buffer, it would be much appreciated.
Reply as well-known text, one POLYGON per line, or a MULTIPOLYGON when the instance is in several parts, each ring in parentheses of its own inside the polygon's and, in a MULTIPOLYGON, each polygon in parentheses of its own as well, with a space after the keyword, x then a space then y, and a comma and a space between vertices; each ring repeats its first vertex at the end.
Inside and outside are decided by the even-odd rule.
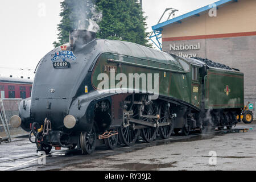
POLYGON ((89 131, 81 132, 80 147, 82 154, 92 154, 96 148, 96 129, 95 126, 89 131))

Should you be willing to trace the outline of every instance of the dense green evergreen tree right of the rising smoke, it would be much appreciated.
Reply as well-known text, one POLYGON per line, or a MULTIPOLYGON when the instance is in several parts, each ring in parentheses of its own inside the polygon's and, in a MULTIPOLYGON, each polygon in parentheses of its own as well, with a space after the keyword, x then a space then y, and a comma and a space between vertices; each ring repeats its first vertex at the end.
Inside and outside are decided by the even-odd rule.
POLYGON ((98 0, 96 5, 103 15, 97 38, 150 46, 147 43, 146 18, 137 0, 98 0))

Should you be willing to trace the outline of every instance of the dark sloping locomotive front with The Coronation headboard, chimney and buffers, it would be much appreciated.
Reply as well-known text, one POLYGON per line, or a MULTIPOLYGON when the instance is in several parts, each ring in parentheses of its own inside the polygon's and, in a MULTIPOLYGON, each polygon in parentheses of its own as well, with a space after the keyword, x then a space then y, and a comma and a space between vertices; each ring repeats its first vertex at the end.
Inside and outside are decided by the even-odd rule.
POLYGON ((74 30, 69 44, 53 49, 40 60, 31 98, 20 103, 19 117, 11 119, 13 125, 31 131, 30 137, 32 133, 42 135, 31 140, 39 150, 76 146, 80 134, 77 131, 92 129, 93 109, 88 108, 95 103, 89 98, 101 94, 92 92, 84 96, 84 90, 85 86, 91 88, 89 70, 102 52, 100 44, 94 32, 74 30))

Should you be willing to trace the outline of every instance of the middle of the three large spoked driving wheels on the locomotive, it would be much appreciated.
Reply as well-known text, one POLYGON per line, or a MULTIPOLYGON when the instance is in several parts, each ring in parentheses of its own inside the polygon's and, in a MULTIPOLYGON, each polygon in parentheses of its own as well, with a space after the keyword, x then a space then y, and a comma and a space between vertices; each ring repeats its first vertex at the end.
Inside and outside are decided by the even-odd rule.
MULTIPOLYGON (((143 102, 146 102, 146 96, 144 96, 143 102)), ((158 108, 156 107, 156 104, 151 101, 151 104, 144 105, 144 110, 142 112, 143 115, 156 115, 158 114, 158 108)), ((144 121, 150 122, 150 123, 156 123, 156 118, 141 118, 144 121)), ((144 129, 141 129, 141 137, 146 142, 152 142, 156 137, 156 127, 147 127, 144 129)))

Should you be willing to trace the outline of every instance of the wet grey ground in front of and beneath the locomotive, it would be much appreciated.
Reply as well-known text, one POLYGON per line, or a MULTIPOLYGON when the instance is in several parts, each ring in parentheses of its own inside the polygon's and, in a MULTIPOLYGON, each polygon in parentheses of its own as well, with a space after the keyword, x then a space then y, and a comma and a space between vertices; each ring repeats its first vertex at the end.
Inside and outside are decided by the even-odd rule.
POLYGON ((256 170, 256 122, 235 127, 245 128, 245 133, 194 133, 115 150, 100 146, 92 155, 52 150, 46 164, 28 138, 15 138, 0 145, 0 170, 256 170))

